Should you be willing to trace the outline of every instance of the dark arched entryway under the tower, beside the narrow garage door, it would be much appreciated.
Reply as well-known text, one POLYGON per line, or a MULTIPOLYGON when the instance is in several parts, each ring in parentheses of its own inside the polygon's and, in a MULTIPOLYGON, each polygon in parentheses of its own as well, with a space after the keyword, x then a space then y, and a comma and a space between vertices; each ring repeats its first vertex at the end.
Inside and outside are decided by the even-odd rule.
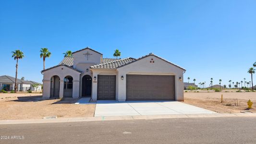
POLYGON ((92 96, 92 77, 85 75, 82 79, 82 96, 92 96))

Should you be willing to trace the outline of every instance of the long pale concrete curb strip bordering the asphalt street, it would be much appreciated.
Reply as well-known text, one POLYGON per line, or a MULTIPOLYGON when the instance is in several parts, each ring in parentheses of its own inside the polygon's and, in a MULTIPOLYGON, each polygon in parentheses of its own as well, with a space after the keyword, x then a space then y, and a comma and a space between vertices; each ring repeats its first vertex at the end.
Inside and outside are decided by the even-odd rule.
POLYGON ((67 118, 67 119, 0 120, 0 125, 3 125, 3 124, 29 124, 29 123, 31 124, 31 123, 106 121, 106 120, 148 120, 148 119, 214 118, 214 117, 256 117, 256 113, 179 114, 179 115, 89 117, 89 118, 67 118))

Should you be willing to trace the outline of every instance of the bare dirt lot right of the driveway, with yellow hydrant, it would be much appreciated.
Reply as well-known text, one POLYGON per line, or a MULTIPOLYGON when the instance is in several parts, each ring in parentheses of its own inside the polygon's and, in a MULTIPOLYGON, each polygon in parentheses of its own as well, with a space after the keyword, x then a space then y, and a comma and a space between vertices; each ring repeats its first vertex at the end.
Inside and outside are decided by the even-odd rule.
MULTIPOLYGON (((191 104, 200 108, 206 108, 219 113, 238 113, 244 111, 247 108, 247 101, 251 99, 256 107, 256 92, 252 93, 236 93, 236 92, 188 92, 184 93, 184 103, 191 104), (223 94, 223 103, 221 101, 221 95, 223 94), (234 106, 234 99, 238 99, 238 106, 234 106), (232 106, 227 106, 231 104, 232 106)), ((256 109, 250 109, 252 112, 256 112, 256 109)))

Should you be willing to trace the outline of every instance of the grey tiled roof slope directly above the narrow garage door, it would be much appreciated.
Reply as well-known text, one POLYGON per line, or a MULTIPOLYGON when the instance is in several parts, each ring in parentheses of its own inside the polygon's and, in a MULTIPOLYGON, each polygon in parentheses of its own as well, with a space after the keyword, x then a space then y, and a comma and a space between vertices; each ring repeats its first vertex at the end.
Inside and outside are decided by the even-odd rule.
POLYGON ((135 61, 134 58, 124 58, 124 59, 115 59, 115 61, 110 61, 102 64, 97 64, 94 66, 91 66, 91 69, 117 69, 123 65, 126 65, 128 63, 131 63, 135 61))

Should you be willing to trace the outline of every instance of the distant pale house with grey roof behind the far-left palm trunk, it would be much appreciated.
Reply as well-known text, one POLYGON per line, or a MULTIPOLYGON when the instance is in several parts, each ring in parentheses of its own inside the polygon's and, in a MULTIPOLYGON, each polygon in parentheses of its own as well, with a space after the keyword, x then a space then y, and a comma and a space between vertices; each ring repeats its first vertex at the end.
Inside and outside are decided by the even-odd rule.
MULTIPOLYGON (((14 90, 14 84, 15 84, 14 77, 8 76, 8 75, 0 76, 0 90, 2 89, 6 91, 14 90)), ((42 90, 41 84, 37 88, 34 88, 32 86, 33 84, 39 84, 34 81, 22 81, 21 79, 17 79, 17 84, 18 84, 18 91, 27 91, 27 90, 41 91, 42 90)))

